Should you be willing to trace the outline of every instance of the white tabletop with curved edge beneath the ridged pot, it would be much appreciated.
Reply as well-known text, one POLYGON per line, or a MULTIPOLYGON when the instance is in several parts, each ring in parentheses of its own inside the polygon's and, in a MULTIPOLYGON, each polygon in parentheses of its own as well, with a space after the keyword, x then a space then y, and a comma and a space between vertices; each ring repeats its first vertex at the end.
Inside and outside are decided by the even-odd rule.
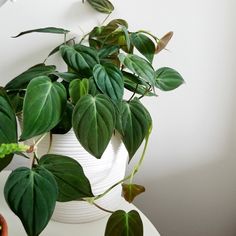
MULTIPOLYGON (((0 173, 0 212, 7 220, 9 236, 26 236, 19 218, 9 209, 3 196, 3 187, 9 173, 9 171, 0 173)), ((148 218, 133 204, 128 204, 124 201, 121 209, 127 211, 135 209, 140 213, 144 224, 144 236, 160 236, 148 218)), ((62 224, 50 221, 40 236, 103 236, 107 219, 108 217, 105 217, 86 224, 62 224)))

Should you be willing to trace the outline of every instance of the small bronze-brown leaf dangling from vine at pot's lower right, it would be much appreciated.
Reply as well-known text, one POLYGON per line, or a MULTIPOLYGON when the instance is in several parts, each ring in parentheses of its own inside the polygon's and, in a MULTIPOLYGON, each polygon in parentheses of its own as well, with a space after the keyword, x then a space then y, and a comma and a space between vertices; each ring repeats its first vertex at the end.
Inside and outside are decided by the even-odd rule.
POLYGON ((141 193, 145 192, 145 188, 138 184, 122 184, 123 197, 131 203, 141 193))

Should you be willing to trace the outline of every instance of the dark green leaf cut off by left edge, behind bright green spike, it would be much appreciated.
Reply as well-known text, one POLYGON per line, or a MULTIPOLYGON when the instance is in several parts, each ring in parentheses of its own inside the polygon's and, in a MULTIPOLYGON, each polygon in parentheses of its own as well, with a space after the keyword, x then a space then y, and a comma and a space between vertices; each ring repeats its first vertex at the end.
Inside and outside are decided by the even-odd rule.
MULTIPOLYGON (((17 124, 11 105, 0 95, 0 145, 3 143, 17 143, 17 124)), ((13 154, 0 158, 0 171, 11 162, 12 158, 13 154)))

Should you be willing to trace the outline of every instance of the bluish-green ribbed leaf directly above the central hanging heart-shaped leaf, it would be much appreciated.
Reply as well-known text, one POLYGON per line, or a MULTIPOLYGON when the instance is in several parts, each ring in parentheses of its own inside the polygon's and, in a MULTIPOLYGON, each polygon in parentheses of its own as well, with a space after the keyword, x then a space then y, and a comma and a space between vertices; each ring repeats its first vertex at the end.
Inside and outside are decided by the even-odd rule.
POLYGON ((98 88, 111 99, 117 101, 123 98, 124 81, 118 67, 113 64, 96 65, 93 76, 98 88))

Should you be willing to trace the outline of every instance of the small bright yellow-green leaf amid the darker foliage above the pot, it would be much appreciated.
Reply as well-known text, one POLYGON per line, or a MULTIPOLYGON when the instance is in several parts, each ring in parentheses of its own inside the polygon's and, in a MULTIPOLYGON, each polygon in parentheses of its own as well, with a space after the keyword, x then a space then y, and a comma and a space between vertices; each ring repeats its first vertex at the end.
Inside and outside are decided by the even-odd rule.
POLYGON ((76 104, 78 100, 88 94, 89 92, 89 80, 88 79, 75 79, 70 82, 69 93, 71 102, 76 104))

